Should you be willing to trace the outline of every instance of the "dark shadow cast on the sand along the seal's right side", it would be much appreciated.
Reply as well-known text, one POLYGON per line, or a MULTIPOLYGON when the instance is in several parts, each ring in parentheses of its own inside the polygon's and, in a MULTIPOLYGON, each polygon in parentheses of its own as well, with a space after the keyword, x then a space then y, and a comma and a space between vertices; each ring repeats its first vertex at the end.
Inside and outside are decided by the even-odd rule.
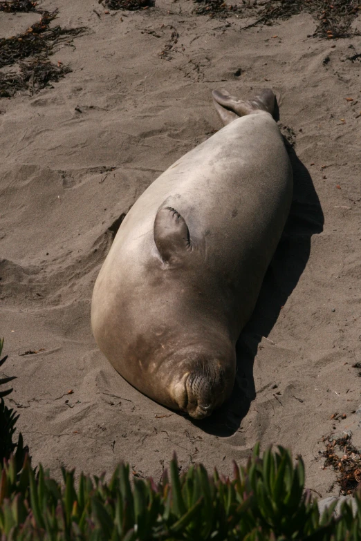
POLYGON ((253 363, 259 342, 275 325, 304 272, 311 251, 311 236, 322 232, 324 215, 310 174, 285 141, 293 168, 293 202, 284 234, 263 280, 252 317, 237 342, 237 375, 230 400, 214 414, 194 424, 206 433, 228 437, 238 430, 256 397, 253 363))

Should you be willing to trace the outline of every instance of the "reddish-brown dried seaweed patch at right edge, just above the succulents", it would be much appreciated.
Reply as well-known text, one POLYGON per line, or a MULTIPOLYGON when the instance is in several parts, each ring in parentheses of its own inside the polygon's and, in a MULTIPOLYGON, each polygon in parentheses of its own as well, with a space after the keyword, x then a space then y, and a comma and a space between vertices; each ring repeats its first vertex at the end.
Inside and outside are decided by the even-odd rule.
POLYGON ((361 451, 351 442, 351 436, 322 438, 326 450, 322 452, 324 467, 332 466, 337 472, 340 494, 353 494, 361 486, 361 451))

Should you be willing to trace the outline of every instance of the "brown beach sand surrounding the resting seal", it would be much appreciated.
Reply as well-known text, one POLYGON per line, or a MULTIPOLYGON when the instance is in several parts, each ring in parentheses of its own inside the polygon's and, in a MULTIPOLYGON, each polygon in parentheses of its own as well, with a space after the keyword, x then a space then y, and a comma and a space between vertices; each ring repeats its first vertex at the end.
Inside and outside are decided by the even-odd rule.
MULTIPOLYGON (((348 59, 361 38, 307 37, 316 22, 306 13, 241 30, 253 19, 196 17, 189 0, 138 12, 106 13, 92 0, 41 8, 59 8, 54 24, 88 30, 52 57, 72 73, 0 100, 1 370, 17 376, 7 403, 33 463, 59 477, 60 465, 99 474, 125 460, 158 479, 175 450, 182 468, 230 474, 260 441, 292 448, 306 486, 337 494, 320 439, 352 428, 361 444, 352 368, 361 361, 361 80, 360 59, 348 59), (195 424, 142 396, 102 356, 93 284, 117 220, 221 128, 212 89, 250 97, 266 86, 294 145, 294 203, 242 335, 232 404, 195 424)), ((2 35, 38 17, 0 14, 2 35)))

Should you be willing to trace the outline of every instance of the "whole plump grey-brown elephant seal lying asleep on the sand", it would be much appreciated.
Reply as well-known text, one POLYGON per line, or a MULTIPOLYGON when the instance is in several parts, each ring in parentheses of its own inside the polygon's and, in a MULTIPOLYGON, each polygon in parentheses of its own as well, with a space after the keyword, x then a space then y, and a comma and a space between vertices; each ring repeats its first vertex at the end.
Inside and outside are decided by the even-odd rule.
POLYGON ((293 177, 275 96, 213 92, 225 127, 169 167, 122 222, 91 323, 115 370, 195 419, 234 386, 235 346, 288 216, 293 177))

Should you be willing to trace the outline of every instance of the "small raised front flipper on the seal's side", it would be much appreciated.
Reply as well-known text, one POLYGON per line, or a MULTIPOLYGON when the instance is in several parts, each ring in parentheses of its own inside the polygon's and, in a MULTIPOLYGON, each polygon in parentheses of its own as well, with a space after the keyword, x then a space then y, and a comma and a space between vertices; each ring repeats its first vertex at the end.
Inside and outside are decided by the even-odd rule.
POLYGON ((154 220, 154 241, 166 263, 192 250, 189 230, 185 219, 172 207, 158 210, 154 220))

